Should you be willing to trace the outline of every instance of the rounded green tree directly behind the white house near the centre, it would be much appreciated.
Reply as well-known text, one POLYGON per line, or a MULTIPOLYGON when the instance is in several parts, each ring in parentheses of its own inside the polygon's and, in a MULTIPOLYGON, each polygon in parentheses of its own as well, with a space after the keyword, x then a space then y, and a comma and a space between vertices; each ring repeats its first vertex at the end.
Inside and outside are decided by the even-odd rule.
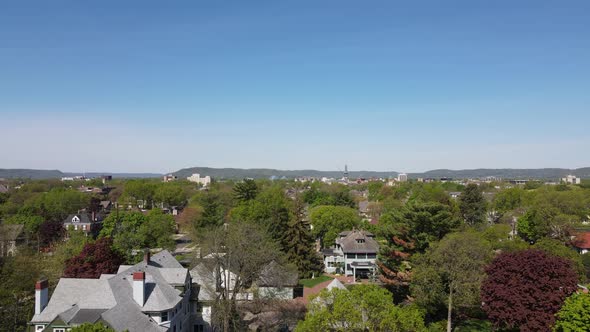
POLYGON ((340 232, 358 227, 361 221, 355 209, 329 205, 313 208, 310 220, 312 234, 320 239, 322 247, 333 245, 340 232))

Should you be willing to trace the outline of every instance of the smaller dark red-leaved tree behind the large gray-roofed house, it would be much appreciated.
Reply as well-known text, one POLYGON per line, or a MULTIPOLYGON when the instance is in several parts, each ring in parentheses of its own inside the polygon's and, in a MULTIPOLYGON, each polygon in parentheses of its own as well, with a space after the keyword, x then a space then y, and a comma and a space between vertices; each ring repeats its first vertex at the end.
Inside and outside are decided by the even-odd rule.
POLYGON ((88 243, 78 256, 66 261, 64 277, 98 278, 101 274, 116 273, 123 257, 112 249, 113 241, 109 237, 88 243))

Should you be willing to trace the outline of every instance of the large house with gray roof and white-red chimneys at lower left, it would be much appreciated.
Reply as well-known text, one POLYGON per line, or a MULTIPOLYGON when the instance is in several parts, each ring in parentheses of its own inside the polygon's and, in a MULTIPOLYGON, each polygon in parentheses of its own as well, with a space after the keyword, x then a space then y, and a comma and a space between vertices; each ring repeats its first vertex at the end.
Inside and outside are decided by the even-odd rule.
POLYGON ((47 281, 35 286, 30 331, 67 331, 101 322, 116 331, 193 331, 189 271, 164 250, 98 279, 61 278, 51 299, 47 281))

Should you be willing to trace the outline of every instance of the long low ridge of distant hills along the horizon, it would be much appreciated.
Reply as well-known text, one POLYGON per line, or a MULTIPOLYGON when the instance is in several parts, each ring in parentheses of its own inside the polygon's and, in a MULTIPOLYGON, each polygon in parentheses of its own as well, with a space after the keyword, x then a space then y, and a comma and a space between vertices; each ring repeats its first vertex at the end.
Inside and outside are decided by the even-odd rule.
MULTIPOLYGON (((297 177, 327 177, 327 178, 342 178, 343 171, 318 171, 318 170, 278 170, 271 168, 212 168, 212 167, 190 167, 183 168, 171 174, 183 179, 193 173, 201 174, 201 176, 211 176, 214 179, 268 179, 270 177, 276 178, 297 178, 297 177)), ((396 171, 349 171, 350 178, 392 178, 397 177, 399 172, 396 171)), ((512 168, 479 168, 479 169, 464 169, 464 170, 450 170, 450 169, 436 169, 423 173, 408 173, 410 178, 441 178, 449 177, 453 179, 465 178, 484 178, 484 177, 498 177, 502 179, 547 179, 557 180, 566 175, 573 174, 579 178, 590 178, 590 167, 567 169, 567 168, 536 168, 536 169, 512 169, 512 168)), ((0 169, 0 178, 13 179, 52 179, 62 178, 65 176, 85 175, 87 177, 98 177, 101 175, 112 175, 114 178, 155 178, 163 174, 159 173, 111 173, 111 172, 62 172, 59 170, 38 170, 38 169, 0 169)))

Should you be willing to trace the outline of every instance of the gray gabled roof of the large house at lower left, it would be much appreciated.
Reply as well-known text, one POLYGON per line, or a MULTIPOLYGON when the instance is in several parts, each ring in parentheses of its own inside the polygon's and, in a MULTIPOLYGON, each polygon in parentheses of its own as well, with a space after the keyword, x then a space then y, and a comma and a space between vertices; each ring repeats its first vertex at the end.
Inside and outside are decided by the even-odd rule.
POLYGON ((188 278, 168 251, 154 255, 149 263, 122 265, 116 275, 99 279, 60 279, 47 307, 31 322, 51 322, 60 317, 68 324, 106 322, 117 331, 166 331, 145 313, 174 308, 182 301, 181 291, 188 278), (174 261, 172 261, 172 260, 174 261), (133 299, 133 272, 145 272, 146 300, 140 306, 133 299))

